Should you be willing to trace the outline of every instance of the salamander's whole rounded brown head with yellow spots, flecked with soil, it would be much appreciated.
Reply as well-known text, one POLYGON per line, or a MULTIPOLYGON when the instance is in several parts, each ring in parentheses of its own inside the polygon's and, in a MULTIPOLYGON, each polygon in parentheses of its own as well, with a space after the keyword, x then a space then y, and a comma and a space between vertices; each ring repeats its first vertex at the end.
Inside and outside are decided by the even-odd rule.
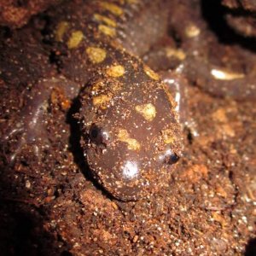
POLYGON ((181 154, 181 135, 164 84, 101 79, 81 102, 84 155, 104 189, 134 201, 166 184, 181 154))

